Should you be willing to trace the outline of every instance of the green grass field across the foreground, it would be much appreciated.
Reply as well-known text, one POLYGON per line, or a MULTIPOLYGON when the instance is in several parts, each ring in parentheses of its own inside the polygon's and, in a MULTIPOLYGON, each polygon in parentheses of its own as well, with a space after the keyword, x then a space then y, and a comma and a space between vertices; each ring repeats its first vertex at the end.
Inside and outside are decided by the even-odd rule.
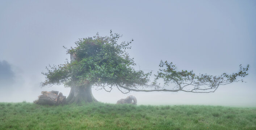
POLYGON ((0 103, 0 130, 256 130, 256 108, 0 103))

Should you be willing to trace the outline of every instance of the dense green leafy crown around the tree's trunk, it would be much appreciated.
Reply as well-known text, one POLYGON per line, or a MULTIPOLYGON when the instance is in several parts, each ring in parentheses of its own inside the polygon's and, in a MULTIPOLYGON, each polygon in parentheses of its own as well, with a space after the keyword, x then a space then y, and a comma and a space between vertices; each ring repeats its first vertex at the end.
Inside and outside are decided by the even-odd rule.
POLYGON ((110 31, 110 36, 83 38, 75 42, 76 47, 67 49, 67 54, 75 55, 74 62, 66 61, 63 65, 46 68, 46 81, 42 86, 64 83, 66 86, 115 86, 125 84, 137 87, 146 84, 151 73, 134 70, 133 58, 126 49, 130 42, 117 43, 121 36, 110 31))

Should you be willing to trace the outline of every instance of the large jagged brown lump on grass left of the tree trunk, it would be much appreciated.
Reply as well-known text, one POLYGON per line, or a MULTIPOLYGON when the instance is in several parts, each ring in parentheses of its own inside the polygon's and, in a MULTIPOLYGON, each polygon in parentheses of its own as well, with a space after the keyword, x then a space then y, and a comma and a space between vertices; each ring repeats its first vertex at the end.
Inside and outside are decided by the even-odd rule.
POLYGON ((35 100, 35 104, 41 105, 59 105, 63 104, 66 101, 66 96, 63 96, 60 92, 58 95, 58 91, 42 91, 40 96, 38 96, 38 100, 35 100))

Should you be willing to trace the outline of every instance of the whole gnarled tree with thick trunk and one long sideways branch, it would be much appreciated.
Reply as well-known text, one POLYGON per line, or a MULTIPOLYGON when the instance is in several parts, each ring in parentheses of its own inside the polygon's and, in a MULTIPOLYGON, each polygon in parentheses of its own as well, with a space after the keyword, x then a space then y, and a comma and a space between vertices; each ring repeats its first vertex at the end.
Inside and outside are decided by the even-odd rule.
MULTIPOLYGON (((212 76, 207 74, 196 75, 193 71, 178 71, 173 63, 160 61, 160 69, 151 82, 151 72, 144 73, 135 70, 133 58, 130 58, 126 49, 130 49, 130 42, 117 43, 121 35, 112 33, 110 36, 99 36, 97 33, 93 38, 83 38, 75 42, 76 47, 67 49, 71 62, 58 66, 46 67, 46 80, 42 86, 53 84, 64 84, 71 87, 67 97, 67 103, 97 102, 92 95, 92 86, 110 92, 113 87, 126 94, 130 91, 185 91, 185 92, 214 92, 219 86, 232 82, 242 81, 238 77, 247 74, 249 65, 243 68, 240 65, 238 73, 212 76), (158 83, 164 81, 164 86, 158 83), (174 84, 171 89, 165 87, 174 84)), ((243 81, 242 81, 243 82, 243 81)))

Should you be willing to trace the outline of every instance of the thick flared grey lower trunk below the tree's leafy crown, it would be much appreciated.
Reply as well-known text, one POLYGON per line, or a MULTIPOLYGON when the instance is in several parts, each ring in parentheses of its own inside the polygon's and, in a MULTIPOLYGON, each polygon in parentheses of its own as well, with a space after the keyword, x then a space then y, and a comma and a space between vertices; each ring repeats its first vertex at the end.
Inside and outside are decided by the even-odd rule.
POLYGON ((92 86, 74 86, 71 87, 70 94, 67 97, 66 102, 71 103, 91 103, 98 102, 92 95, 92 86))

